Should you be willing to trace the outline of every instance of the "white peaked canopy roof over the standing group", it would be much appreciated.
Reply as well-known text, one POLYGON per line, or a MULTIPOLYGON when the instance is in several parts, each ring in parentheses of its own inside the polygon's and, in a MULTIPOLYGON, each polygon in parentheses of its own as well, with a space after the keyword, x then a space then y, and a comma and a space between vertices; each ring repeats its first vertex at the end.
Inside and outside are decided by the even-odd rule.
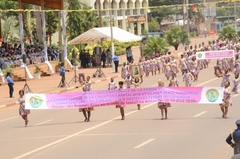
MULTIPOLYGON (((92 28, 87 32, 79 35, 75 39, 68 42, 69 45, 89 43, 93 41, 100 40, 102 38, 111 38, 111 28, 92 28)), ((142 38, 140 36, 129 33, 118 27, 113 27, 113 39, 119 42, 130 42, 130 41, 140 41, 142 38)))

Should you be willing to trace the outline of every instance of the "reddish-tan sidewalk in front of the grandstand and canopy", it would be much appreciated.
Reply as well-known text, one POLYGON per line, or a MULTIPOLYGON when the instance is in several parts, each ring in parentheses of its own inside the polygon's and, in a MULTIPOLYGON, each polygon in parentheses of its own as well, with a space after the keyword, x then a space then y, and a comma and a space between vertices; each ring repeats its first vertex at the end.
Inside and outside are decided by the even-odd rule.
MULTIPOLYGON (((106 75, 106 77, 102 78, 93 78, 93 74, 96 72, 96 68, 88 68, 88 69, 80 69, 77 71, 76 75, 78 76, 79 73, 84 73, 85 78, 87 76, 91 77, 92 84, 100 83, 102 81, 110 80, 110 78, 117 78, 120 77, 120 73, 112 73, 112 67, 102 68, 102 71, 106 75)), ((66 81, 70 82, 71 79, 74 77, 74 71, 66 73, 66 81)), ((80 84, 77 82, 76 84, 73 82, 69 87, 58 88, 60 83, 61 76, 59 74, 55 74, 53 76, 44 76, 40 79, 32 79, 28 80, 27 84, 32 90, 33 93, 62 93, 67 92, 70 90, 77 89, 80 84)), ((0 108, 13 106, 17 104, 17 99, 19 97, 18 91, 23 89, 25 85, 25 81, 15 82, 14 83, 14 98, 9 98, 9 89, 7 84, 3 84, 0 86, 0 108)), ((79 90, 79 88, 78 88, 79 90)))

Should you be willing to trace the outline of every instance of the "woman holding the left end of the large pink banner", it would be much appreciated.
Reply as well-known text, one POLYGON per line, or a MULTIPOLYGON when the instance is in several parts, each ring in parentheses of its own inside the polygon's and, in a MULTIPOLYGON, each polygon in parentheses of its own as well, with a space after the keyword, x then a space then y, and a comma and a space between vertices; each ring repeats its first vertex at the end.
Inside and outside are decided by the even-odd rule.
POLYGON ((25 126, 28 125, 28 114, 30 114, 30 110, 25 109, 25 100, 24 100, 24 91, 20 90, 19 91, 19 98, 18 102, 20 104, 19 106, 19 115, 22 116, 23 120, 25 121, 25 126))

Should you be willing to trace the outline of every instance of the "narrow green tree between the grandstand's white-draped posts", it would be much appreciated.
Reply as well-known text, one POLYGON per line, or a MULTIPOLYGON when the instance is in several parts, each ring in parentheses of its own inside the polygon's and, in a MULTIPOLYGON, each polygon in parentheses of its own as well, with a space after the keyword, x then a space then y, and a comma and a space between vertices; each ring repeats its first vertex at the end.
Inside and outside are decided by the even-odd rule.
POLYGON ((52 45, 52 35, 57 32, 58 28, 58 13, 57 12, 46 12, 46 34, 50 37, 50 45, 52 45))

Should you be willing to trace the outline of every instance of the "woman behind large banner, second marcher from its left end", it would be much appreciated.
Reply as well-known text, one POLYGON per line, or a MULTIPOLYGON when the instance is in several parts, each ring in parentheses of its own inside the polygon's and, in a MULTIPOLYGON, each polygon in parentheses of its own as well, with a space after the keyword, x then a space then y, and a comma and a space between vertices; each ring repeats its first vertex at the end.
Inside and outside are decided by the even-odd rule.
MULTIPOLYGON (((83 86, 83 91, 84 92, 88 92, 91 91, 92 87, 91 87, 91 81, 90 81, 90 76, 87 76, 87 80, 83 86)), ((85 117, 85 122, 89 122, 90 121, 90 117, 91 117, 91 111, 94 110, 94 107, 89 107, 89 108, 79 108, 79 112, 83 112, 83 116, 85 117)))

